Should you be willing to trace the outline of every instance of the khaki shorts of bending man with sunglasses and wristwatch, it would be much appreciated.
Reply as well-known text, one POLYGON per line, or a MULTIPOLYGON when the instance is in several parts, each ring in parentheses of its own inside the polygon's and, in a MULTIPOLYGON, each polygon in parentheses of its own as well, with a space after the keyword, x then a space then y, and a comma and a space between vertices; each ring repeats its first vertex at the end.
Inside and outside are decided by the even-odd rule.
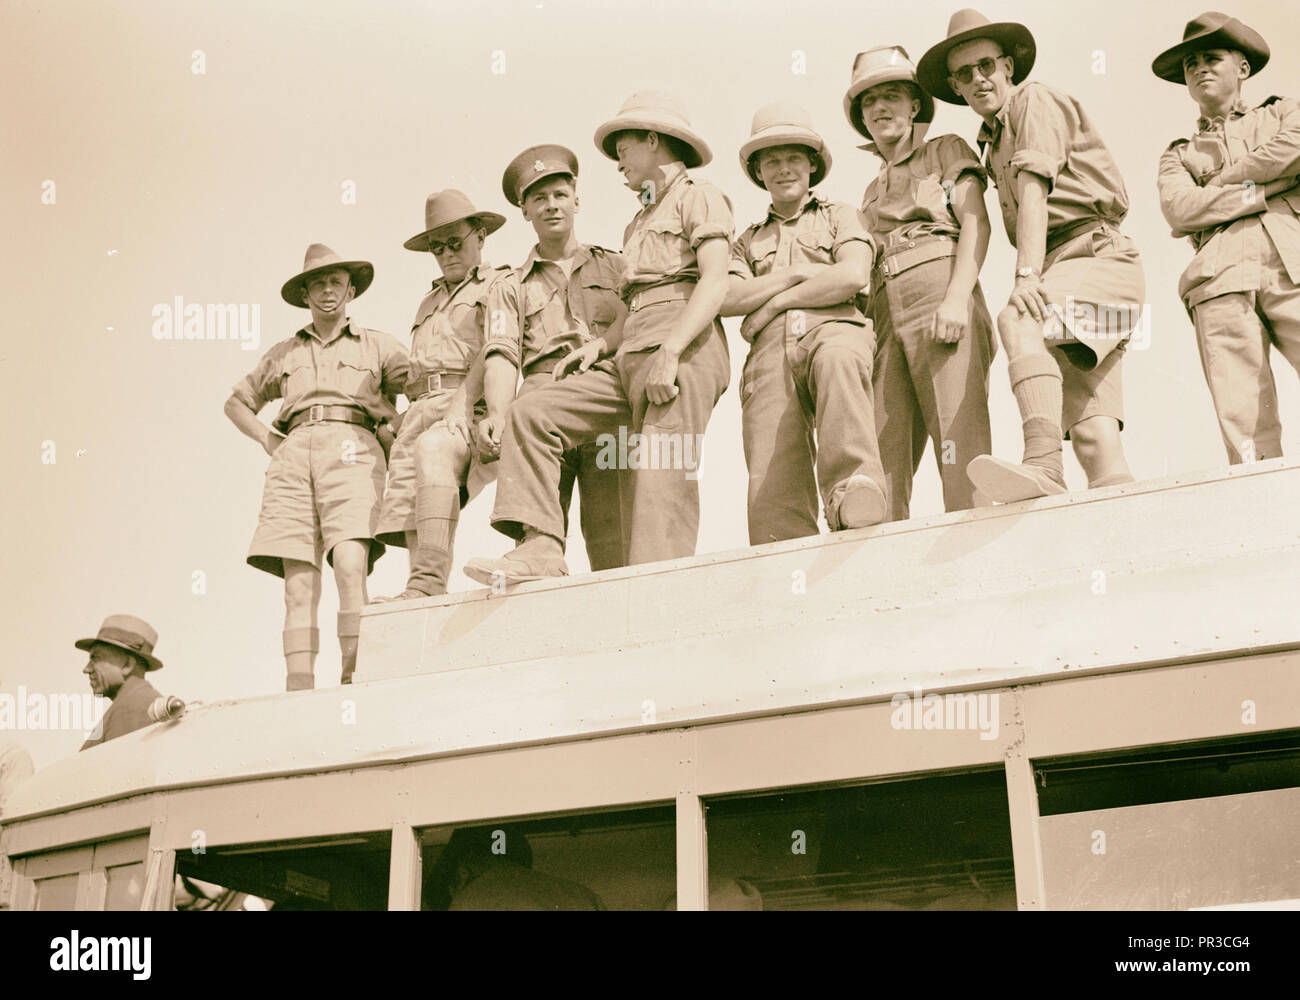
POLYGON ((1136 246, 1109 224, 1083 233, 1046 255, 1043 291, 1054 313, 1043 336, 1061 368, 1066 438, 1092 416, 1123 428, 1123 358, 1147 304, 1136 246))

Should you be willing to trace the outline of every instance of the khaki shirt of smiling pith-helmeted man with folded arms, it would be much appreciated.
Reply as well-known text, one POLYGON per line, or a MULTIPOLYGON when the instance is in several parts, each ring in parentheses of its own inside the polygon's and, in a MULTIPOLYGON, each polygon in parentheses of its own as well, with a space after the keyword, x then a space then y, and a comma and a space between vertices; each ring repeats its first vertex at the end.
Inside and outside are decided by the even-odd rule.
MULTIPOLYGON (((760 278, 794 264, 833 264, 840 248, 853 241, 864 243, 868 259, 875 257, 876 244, 852 205, 809 194, 794 218, 783 218, 768 205, 767 217, 737 237, 732 244, 731 273, 760 278)), ((831 321, 867 324, 854 299, 838 306, 800 308, 798 312, 805 316, 806 332, 831 321)), ((781 313, 779 319, 789 315, 781 313)))

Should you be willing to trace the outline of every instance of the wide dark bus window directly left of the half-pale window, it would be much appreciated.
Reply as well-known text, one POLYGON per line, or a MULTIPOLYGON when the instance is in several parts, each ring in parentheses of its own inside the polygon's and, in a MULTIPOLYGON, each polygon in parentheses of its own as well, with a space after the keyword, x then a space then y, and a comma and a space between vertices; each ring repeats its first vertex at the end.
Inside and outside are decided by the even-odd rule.
POLYGON ((1001 770, 706 806, 710 909, 1015 909, 1001 770))

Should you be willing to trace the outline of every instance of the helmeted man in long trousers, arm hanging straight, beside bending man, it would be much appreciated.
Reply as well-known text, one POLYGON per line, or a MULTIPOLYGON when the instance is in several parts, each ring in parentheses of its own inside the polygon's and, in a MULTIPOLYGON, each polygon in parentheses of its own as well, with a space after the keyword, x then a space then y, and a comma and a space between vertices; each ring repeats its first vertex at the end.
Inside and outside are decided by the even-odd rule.
POLYGON ((844 112, 883 163, 862 196, 879 247, 871 276, 872 385, 889 520, 905 520, 926 451, 944 507, 976 503, 966 466, 992 447, 988 369, 997 341, 979 286, 988 250, 987 174, 956 135, 927 138, 935 99, 900 46, 861 52, 844 112))

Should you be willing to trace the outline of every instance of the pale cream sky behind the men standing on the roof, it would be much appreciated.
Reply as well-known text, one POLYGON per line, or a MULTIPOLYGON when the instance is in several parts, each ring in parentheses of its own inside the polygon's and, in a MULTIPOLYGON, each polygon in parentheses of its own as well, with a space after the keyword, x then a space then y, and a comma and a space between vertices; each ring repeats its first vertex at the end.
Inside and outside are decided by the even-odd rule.
MULTIPOLYGON (((772 100, 812 112, 835 153, 820 190, 857 205, 876 161, 855 148, 861 140, 841 111, 853 56, 897 43, 919 59, 953 9, 931 0, 5 3, 0 198, 9 237, 0 268, 12 322, 0 345, 8 427, 0 693, 87 691, 86 655, 72 644, 118 611, 159 629, 166 668, 152 680, 165 693, 213 701, 283 689, 282 584, 244 563, 266 456, 221 407, 259 356, 307 321, 280 299, 280 286, 300 269, 308 243, 374 263, 374 285, 351 313, 406 343, 436 276, 430 256, 402 248, 424 229, 425 195, 459 187, 504 213, 510 222, 486 255, 519 264, 533 233, 502 198, 500 174, 525 146, 558 142, 581 161, 578 238, 618 248, 637 203, 592 135, 625 96, 650 87, 686 101, 715 153, 699 176, 728 192, 738 228, 766 211, 737 150, 754 111, 772 100), (155 306, 176 296, 260 306, 259 349, 156 339, 155 306), (44 442, 55 445, 52 464, 44 442)), ((1149 349, 1126 362, 1134 473, 1223 466, 1176 295, 1191 248, 1170 237, 1156 199, 1157 159, 1192 130, 1195 109, 1186 88, 1149 66, 1182 38, 1200 3, 980 9, 1028 25, 1039 46, 1031 79, 1083 103, 1128 187, 1124 230, 1145 261, 1152 321, 1149 349)), ((1256 0, 1230 13, 1274 49, 1248 81, 1247 99, 1300 96, 1300 8, 1256 0)), ((968 109, 940 104, 931 135, 954 131, 974 143, 978 124, 968 109)), ((996 312, 1014 257, 993 192, 988 204, 993 246, 983 285, 996 312)), ((737 391, 745 345, 738 324, 727 325, 733 376, 705 445, 699 551, 746 541, 737 391)), ((1297 454, 1300 386, 1284 363, 1275 368, 1284 446, 1297 454)), ((1018 458, 1001 352, 991 394, 994 450, 1018 458)), ((1072 459, 1067 477, 1083 488, 1072 459)), ((488 525, 490 508, 489 490, 463 515, 452 589, 474 585, 459 572, 467 558, 510 547, 488 525)), ((913 514, 941 510, 927 456, 913 514)), ((585 568, 580 541, 569 546, 569 567, 585 568)), ((400 590, 404 576, 404 551, 390 551, 370 577, 372 594, 400 590)), ((318 685, 338 678, 335 610, 326 576, 318 685)), ((38 766, 82 740, 81 732, 8 735, 38 766)))

